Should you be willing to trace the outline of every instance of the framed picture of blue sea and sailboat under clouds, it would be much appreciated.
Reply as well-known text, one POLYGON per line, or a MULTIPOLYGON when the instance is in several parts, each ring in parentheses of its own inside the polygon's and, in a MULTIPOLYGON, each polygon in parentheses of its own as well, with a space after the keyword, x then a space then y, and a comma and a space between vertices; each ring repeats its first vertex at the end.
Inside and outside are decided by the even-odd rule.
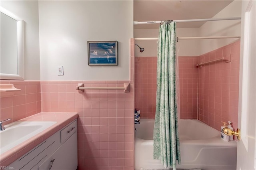
POLYGON ((117 41, 88 41, 88 65, 117 65, 117 41))

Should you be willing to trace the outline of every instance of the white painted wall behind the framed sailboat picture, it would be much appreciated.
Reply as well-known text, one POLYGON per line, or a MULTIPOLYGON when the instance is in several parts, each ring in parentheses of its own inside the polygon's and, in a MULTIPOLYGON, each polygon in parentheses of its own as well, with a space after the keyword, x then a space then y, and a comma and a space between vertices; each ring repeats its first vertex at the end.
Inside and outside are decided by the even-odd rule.
POLYGON ((129 79, 133 1, 39 1, 39 28, 41 80, 129 79), (87 41, 114 40, 117 66, 87 65, 87 41))

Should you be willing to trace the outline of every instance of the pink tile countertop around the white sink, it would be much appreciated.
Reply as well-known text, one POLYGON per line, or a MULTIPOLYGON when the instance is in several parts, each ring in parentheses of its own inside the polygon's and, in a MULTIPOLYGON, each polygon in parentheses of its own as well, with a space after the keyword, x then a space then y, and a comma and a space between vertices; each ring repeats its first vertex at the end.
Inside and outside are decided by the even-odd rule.
POLYGON ((19 121, 55 121, 54 125, 0 155, 0 166, 8 166, 78 117, 78 113, 42 112, 19 121))

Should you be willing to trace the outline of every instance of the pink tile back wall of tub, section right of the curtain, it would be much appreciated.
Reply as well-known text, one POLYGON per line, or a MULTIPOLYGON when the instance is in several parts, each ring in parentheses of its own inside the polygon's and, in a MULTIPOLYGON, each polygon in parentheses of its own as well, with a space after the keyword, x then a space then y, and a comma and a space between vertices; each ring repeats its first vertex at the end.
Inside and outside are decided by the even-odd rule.
POLYGON ((197 119, 198 56, 179 56, 180 119, 197 119))

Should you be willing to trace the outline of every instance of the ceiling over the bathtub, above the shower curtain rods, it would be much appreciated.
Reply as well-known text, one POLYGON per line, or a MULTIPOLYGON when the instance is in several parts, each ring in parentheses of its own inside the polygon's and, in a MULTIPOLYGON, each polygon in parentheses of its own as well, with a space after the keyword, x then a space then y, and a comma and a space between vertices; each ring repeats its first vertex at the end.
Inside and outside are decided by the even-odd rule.
MULTIPOLYGON (((233 0, 134 0, 134 21, 164 21, 212 18, 233 0)), ((205 22, 180 22, 177 28, 199 28, 205 22)), ((159 28, 138 24, 134 29, 159 28)))

